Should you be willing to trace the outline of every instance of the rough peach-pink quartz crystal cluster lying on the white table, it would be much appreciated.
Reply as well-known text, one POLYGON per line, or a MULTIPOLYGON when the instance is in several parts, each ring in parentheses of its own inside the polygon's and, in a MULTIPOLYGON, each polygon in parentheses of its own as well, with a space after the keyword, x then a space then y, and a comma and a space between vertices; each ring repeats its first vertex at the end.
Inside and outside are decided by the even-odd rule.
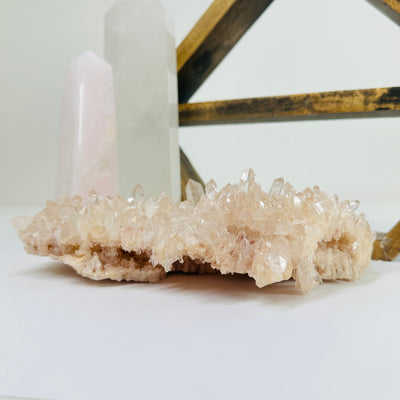
POLYGON ((156 282, 167 272, 248 274, 257 286, 293 278, 309 292, 322 280, 357 279, 370 262, 373 234, 358 202, 317 186, 296 193, 282 178, 269 193, 252 170, 220 191, 189 181, 187 201, 92 193, 49 201, 14 226, 28 253, 50 256, 91 279, 156 282))

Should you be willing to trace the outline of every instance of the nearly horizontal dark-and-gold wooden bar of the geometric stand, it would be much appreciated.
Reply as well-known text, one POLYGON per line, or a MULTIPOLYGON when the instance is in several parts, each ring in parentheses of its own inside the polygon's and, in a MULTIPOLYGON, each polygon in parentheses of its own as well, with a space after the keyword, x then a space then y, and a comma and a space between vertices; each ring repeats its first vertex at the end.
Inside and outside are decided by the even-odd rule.
POLYGON ((181 126, 400 115, 400 87, 179 105, 181 126))

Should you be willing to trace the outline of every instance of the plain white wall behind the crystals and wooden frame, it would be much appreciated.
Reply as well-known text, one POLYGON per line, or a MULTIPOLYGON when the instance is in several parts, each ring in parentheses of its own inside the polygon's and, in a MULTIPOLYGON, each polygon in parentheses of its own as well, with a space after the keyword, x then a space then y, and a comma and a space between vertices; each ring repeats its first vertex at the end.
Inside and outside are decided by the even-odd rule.
MULTIPOLYGON (((0 204, 53 198, 65 67, 103 53, 113 0, 0 3, 0 204)), ((177 44, 211 0, 164 0, 177 44)), ((400 27, 365 0, 275 0, 192 101, 400 86, 400 27)), ((138 60, 140 62, 140 60, 138 60)), ((342 198, 400 200, 400 118, 182 128, 204 180, 252 167, 342 198)))

